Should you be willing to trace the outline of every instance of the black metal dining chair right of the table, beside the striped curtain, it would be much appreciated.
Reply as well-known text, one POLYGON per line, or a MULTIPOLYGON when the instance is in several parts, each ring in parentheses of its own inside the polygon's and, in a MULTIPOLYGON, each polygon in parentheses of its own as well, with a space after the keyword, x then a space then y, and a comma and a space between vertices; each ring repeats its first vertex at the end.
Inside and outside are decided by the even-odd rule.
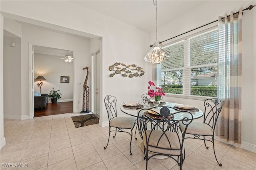
MULTIPOLYGON (((214 131, 216 122, 218 119, 218 116, 220 114, 220 111, 222 109, 222 103, 220 99, 214 98, 214 99, 206 99, 204 101, 204 122, 198 123, 198 122, 192 122, 190 125, 188 125, 188 128, 186 130, 186 134, 192 134, 194 137, 186 137, 186 138, 192 138, 192 139, 199 139, 204 140, 204 145, 206 149, 209 147, 206 146, 205 141, 210 141, 213 144, 213 151, 214 156, 219 164, 219 166, 222 166, 217 160, 216 154, 215 154, 215 148, 214 148, 214 131), (206 136, 210 136, 210 139, 205 138, 206 136)), ((180 124, 180 128, 184 132, 186 126, 180 124)), ((186 139, 185 138, 185 139, 186 139)))

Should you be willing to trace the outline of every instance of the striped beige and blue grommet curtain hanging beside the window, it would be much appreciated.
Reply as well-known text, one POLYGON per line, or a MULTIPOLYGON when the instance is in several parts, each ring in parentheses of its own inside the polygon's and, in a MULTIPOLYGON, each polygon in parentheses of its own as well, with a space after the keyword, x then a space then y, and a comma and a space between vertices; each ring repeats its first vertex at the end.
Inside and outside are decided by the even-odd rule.
POLYGON ((216 138, 241 144, 242 127, 242 8, 218 21, 218 88, 222 111, 216 123, 216 138))

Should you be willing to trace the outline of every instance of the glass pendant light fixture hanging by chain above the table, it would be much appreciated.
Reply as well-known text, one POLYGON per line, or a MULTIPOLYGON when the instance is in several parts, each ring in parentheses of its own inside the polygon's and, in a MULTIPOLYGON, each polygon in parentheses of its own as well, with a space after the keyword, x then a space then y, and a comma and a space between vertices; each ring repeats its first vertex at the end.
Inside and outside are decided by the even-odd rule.
POLYGON ((157 0, 153 0, 153 3, 156 6, 156 42, 154 43, 154 47, 144 57, 144 60, 152 64, 160 64, 164 59, 170 58, 170 55, 159 47, 159 42, 157 41, 157 0))

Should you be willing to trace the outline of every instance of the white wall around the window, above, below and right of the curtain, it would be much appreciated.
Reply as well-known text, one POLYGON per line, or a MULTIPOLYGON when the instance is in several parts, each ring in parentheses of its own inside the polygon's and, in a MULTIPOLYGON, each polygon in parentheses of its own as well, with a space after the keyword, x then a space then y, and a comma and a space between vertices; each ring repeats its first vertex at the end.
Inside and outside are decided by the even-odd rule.
MULTIPOLYGON (((160 2, 159 2, 160 3, 160 2)), ((158 39, 167 40, 184 32, 212 22, 218 16, 230 14, 233 10, 255 5, 256 1, 203 1, 201 6, 191 9, 172 22, 158 27, 158 39), (209 8, 209 6, 211 8, 209 8), (189 16, 189 17, 188 17, 189 16)), ((244 11, 242 16, 242 148, 256 152, 256 9, 244 11)), ((218 24, 217 22, 211 26, 218 24)), ((155 32, 150 32, 153 43, 155 32)), ((170 42, 170 41, 169 41, 170 42)), ((164 44, 164 43, 163 43, 164 44)), ((196 105, 203 109, 203 101, 166 96, 165 101, 196 105)))

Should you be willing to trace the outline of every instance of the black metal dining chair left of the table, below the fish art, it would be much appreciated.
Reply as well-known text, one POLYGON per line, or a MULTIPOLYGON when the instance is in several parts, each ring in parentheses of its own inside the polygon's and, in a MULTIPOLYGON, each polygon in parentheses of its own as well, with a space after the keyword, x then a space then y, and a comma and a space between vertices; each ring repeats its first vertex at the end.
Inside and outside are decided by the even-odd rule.
MULTIPOLYGON (((129 132, 126 132, 126 133, 130 134, 130 136, 131 136, 130 154, 132 155, 132 151, 131 151, 132 130, 137 123, 136 117, 117 117, 116 97, 114 97, 114 96, 106 95, 104 102, 105 102, 106 110, 108 113, 108 122, 109 122, 108 142, 109 142, 109 138, 110 138, 110 132, 115 132, 115 135, 113 136, 113 137, 115 137, 116 132, 126 132, 126 131, 123 131, 123 129, 130 129, 131 133, 129 133, 129 132), (114 130, 111 130, 111 128, 114 128, 114 130)), ((104 147, 104 149, 106 149, 107 147, 108 147, 108 143, 107 143, 107 146, 104 147)))

